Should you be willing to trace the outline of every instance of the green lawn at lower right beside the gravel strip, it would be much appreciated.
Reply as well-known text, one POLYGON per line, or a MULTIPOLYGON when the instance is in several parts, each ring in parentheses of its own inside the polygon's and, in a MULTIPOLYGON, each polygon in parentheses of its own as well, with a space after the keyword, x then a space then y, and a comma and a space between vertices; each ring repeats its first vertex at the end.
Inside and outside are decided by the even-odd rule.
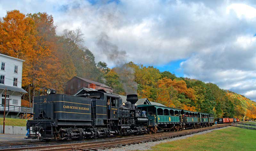
POLYGON ((214 130, 207 134, 194 135, 186 139, 161 143, 152 147, 153 151, 231 151, 256 150, 256 131, 238 127, 214 130))

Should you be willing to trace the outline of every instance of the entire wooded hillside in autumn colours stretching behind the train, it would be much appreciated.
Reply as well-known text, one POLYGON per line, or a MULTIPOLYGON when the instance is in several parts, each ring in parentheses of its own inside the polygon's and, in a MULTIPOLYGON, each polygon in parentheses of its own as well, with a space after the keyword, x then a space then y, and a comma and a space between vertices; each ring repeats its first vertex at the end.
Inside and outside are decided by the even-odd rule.
POLYGON ((13 10, 0 21, 0 52, 26 60, 22 87, 29 93, 23 99, 32 100, 40 87, 61 93, 65 82, 80 76, 105 83, 122 95, 126 95, 125 89, 132 83, 140 98, 169 107, 213 113, 217 117, 256 119, 255 102, 216 84, 176 77, 169 71, 160 72, 153 66, 133 62, 112 69, 105 62, 96 63, 81 30, 65 29, 57 36, 53 17, 47 13, 25 15, 13 10), (120 69, 127 72, 119 72, 120 69))

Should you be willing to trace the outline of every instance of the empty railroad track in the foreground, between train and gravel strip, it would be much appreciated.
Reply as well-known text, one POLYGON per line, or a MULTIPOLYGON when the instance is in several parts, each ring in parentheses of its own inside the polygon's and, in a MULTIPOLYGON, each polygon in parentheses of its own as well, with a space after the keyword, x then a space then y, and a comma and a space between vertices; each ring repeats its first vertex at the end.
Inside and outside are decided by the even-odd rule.
POLYGON ((157 133, 152 135, 146 136, 136 136, 133 138, 120 138, 114 140, 103 140, 103 141, 95 141, 95 142, 85 142, 85 143, 74 143, 74 144, 61 144, 61 145, 49 145, 49 146, 36 146, 36 147, 21 147, 21 148, 5 148, 0 149, 0 151, 21 151, 21 150, 44 150, 44 151, 70 151, 70 150, 86 150, 86 149, 103 149, 103 148, 111 148, 111 147, 121 147, 131 144, 138 144, 142 142, 149 142, 149 141, 157 141, 163 139, 169 139, 173 137, 184 136, 188 134, 193 134, 197 132, 217 129, 221 127, 229 126, 229 124, 222 124, 218 126, 212 127, 205 127, 199 129, 190 129, 184 131, 177 131, 177 132, 165 132, 165 133, 157 133))

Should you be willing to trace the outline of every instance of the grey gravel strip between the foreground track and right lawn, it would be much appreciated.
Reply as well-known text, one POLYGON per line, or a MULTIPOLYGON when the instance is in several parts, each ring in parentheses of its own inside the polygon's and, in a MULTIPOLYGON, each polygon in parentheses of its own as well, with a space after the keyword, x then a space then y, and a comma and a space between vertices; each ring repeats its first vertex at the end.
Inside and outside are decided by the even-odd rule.
MULTIPOLYGON (((227 127, 229 127, 229 126, 227 126, 227 127)), ((219 129, 224 129, 224 128, 227 128, 227 127, 222 127, 222 128, 219 128, 219 129)), ((213 130, 219 130, 219 129, 213 129, 213 130)), ((126 146, 123 146, 121 148, 110 148, 110 149, 105 149, 105 150, 99 149, 99 151, 149 150, 149 149, 151 149, 151 147, 153 147, 153 146, 155 146, 157 144, 160 144, 160 143, 165 143, 165 142, 179 140, 179 139, 185 139, 187 137, 191 137, 191 136, 194 136, 194 135, 206 134, 206 133, 209 133, 209 132, 211 132, 213 130, 202 131, 202 132, 199 132, 199 133, 194 133, 194 134, 185 135, 185 136, 181 136, 181 137, 175 137, 175 138, 172 138, 172 139, 165 139, 165 140, 160 140, 160 141, 140 143, 140 144, 134 144, 134 145, 131 144, 130 146, 126 145, 126 146)))

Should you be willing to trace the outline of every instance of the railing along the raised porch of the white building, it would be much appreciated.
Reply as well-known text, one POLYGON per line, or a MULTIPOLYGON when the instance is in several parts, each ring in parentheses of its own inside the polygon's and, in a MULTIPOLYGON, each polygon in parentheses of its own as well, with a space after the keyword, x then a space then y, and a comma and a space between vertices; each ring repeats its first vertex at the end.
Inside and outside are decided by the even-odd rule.
MULTIPOLYGON (((0 111, 4 111, 4 104, 0 104, 0 111)), ((14 106, 14 105, 6 105, 5 112, 33 114, 33 107, 21 107, 21 106, 14 106)))

